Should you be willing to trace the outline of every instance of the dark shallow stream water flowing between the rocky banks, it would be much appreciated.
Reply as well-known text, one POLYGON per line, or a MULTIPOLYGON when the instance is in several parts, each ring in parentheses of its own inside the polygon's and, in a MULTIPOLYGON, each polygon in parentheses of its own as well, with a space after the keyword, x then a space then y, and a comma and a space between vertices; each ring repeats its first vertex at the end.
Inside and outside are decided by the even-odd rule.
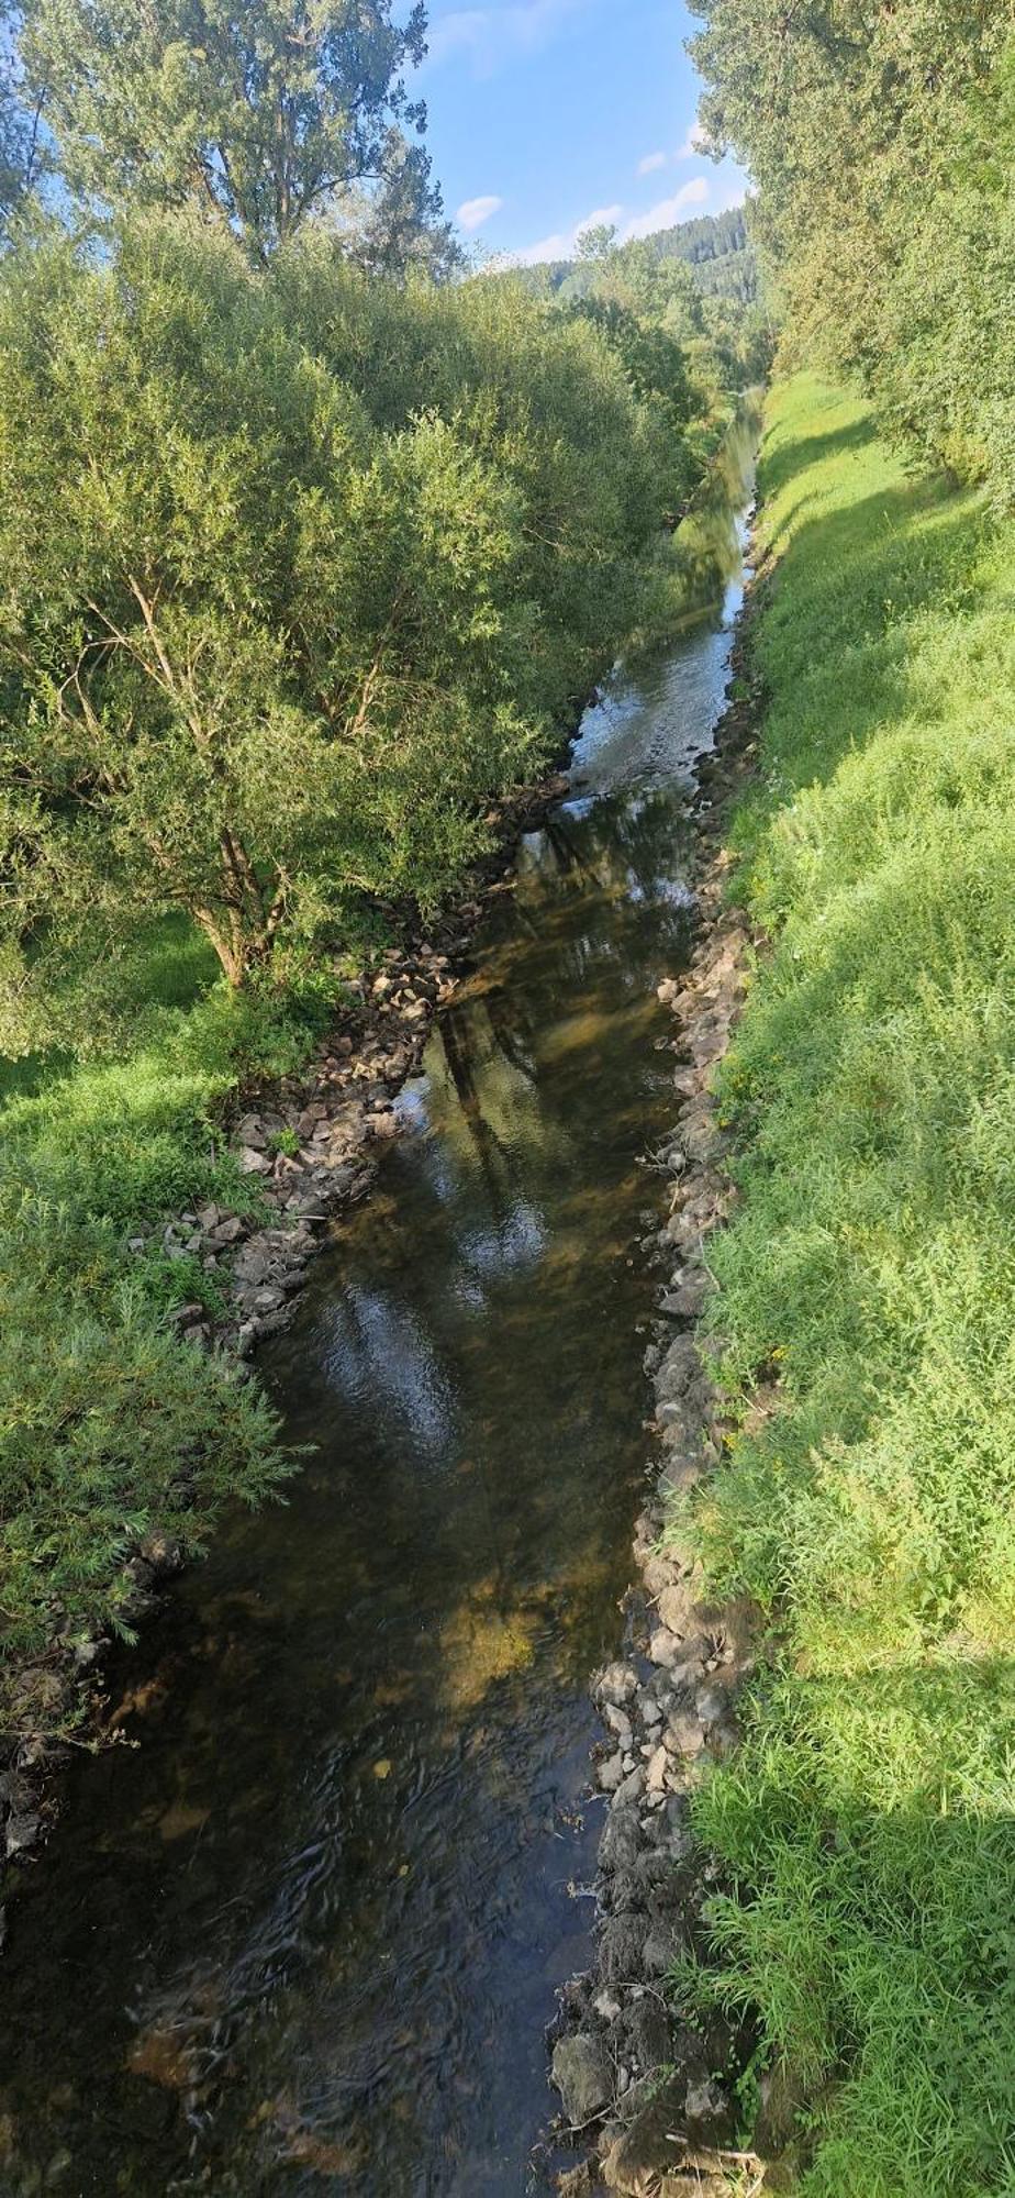
POLYGON ((688 945, 749 462, 734 431, 699 541, 723 580, 589 710, 406 1134, 264 1354, 314 1444, 288 1506, 228 1521, 121 1659, 132 1745, 81 1758, 9 1901, 4 2198, 543 2187, 602 1829, 587 1684, 648 1459, 655 987, 688 945))

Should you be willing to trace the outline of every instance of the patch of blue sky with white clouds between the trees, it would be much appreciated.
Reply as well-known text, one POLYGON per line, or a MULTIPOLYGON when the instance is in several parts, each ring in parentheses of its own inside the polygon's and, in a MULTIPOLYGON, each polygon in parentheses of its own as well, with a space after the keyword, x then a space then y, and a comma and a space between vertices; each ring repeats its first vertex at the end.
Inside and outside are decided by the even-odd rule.
POLYGON ((743 198, 740 169, 692 136, 681 0, 431 0, 428 18, 413 90, 466 242, 554 259, 591 220, 648 235, 743 198))

